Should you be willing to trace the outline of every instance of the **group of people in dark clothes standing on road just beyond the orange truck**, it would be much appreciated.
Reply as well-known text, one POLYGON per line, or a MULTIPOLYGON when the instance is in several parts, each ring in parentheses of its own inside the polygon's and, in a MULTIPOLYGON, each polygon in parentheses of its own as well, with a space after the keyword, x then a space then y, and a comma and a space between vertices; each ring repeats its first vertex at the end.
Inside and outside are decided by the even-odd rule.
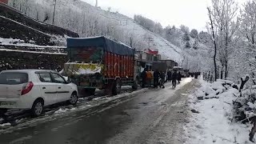
MULTIPOLYGON (((176 87, 176 82, 180 83, 182 80, 182 74, 180 72, 177 73, 177 71, 174 71, 173 73, 171 71, 167 72, 167 80, 172 81, 173 87, 176 87)), ((150 87, 152 79, 154 79, 154 88, 165 88, 164 83, 166 80, 166 73, 163 71, 155 70, 154 72, 152 70, 146 70, 144 69, 142 71, 142 88, 144 87, 150 87)))

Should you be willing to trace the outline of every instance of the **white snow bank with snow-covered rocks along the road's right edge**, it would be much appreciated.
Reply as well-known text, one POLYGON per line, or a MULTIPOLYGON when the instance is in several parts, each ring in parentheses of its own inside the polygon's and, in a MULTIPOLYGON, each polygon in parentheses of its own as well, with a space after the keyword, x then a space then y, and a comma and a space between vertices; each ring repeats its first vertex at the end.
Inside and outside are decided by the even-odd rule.
POLYGON ((202 82, 202 87, 190 95, 190 108, 199 114, 191 112, 190 122, 184 126, 186 143, 252 143, 249 141, 251 127, 231 122, 232 103, 237 93, 238 90, 232 88, 230 82, 202 82))

